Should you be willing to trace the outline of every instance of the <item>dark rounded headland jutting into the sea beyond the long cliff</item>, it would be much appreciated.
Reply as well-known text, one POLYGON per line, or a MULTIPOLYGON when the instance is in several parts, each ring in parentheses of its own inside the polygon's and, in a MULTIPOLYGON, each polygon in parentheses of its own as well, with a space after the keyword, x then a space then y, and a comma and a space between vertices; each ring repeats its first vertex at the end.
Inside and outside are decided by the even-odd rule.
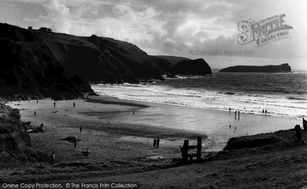
POLYGON ((177 74, 206 75, 212 74, 211 68, 204 59, 183 60, 172 67, 177 74))

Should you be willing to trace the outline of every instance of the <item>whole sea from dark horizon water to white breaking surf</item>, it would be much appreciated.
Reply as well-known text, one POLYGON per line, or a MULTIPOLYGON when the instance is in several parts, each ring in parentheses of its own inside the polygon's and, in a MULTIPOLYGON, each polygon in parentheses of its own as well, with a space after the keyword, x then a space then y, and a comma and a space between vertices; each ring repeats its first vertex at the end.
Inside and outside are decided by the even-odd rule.
POLYGON ((98 84, 103 96, 299 119, 307 117, 307 71, 178 75, 141 84, 98 84))

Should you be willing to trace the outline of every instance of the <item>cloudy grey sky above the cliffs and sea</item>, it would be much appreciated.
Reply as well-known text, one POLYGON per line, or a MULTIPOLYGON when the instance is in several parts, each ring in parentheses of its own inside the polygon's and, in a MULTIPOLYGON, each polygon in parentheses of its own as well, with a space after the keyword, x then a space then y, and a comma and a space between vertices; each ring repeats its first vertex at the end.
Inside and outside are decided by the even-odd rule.
POLYGON ((148 55, 203 58, 211 68, 288 63, 307 69, 305 10, 304 0, 1 0, 0 22, 110 37, 136 44, 148 55), (287 31, 287 38, 261 46, 238 43, 239 22, 282 14, 283 25, 292 26, 279 32, 287 31))

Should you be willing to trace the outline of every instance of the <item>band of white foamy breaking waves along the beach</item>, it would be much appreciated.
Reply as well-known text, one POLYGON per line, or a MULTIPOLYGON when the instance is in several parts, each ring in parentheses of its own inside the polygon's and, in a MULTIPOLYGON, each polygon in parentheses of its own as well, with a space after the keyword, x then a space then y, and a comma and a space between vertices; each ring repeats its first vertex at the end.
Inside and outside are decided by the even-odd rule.
POLYGON ((262 114, 267 110, 271 116, 301 119, 307 115, 307 98, 278 94, 253 94, 207 91, 198 88, 178 88, 151 84, 92 85, 99 95, 120 99, 166 103, 201 109, 240 111, 262 114))

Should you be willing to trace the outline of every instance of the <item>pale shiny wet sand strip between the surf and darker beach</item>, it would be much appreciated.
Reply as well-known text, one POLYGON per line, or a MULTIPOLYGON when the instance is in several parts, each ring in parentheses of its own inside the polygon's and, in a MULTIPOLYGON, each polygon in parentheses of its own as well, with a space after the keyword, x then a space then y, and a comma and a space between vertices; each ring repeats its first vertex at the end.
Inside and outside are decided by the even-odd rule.
MULTIPOLYGON (((291 129, 296 124, 301 124, 297 119, 282 118, 268 115, 241 113, 234 118, 234 112, 214 109, 199 109, 196 107, 178 106, 156 102, 119 99, 117 97, 99 96, 98 98, 113 99, 128 103, 138 103, 149 107, 142 109, 144 119, 131 120, 128 115, 121 115, 126 122, 176 128, 196 131, 208 137, 203 146, 206 151, 220 151, 232 137, 241 137, 259 133, 274 132, 277 130, 291 129), (167 117, 165 118, 165 115, 167 117), (231 128, 229 128, 231 125, 231 128)), ((99 102, 97 99, 96 102, 99 102)), ((103 103, 103 102, 101 102, 103 103)), ((139 113, 138 113, 139 114, 139 113)))

